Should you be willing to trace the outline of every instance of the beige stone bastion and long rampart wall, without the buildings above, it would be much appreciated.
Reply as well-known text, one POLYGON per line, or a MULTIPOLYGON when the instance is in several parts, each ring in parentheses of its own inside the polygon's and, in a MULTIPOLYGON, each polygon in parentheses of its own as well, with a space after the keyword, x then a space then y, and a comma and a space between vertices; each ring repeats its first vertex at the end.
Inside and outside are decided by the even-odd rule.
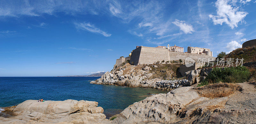
POLYGON ((184 52, 172 52, 169 51, 168 48, 155 48, 155 47, 146 47, 140 46, 133 50, 130 64, 133 65, 142 65, 142 64, 153 64, 157 61, 161 62, 164 61, 173 61, 182 59, 183 61, 187 58, 194 59, 197 61, 199 58, 201 59, 216 59, 210 55, 203 55, 203 54, 192 54, 192 53, 184 53, 184 52))

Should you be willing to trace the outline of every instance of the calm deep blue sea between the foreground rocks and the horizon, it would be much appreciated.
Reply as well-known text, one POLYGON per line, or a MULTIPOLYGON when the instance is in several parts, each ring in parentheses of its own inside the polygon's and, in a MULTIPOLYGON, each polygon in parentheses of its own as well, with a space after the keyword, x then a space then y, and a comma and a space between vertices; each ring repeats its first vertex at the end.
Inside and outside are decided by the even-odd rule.
POLYGON ((25 100, 88 100, 103 107, 107 118, 119 114, 134 102, 167 93, 152 88, 90 84, 100 77, 0 77, 0 107, 18 105, 25 100))

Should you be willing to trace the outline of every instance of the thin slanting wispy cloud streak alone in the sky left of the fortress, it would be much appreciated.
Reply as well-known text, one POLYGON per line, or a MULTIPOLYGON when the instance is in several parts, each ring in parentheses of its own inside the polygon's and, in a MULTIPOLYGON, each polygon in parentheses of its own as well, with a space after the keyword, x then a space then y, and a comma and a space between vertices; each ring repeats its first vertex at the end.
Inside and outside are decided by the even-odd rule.
POLYGON ((99 28, 96 28, 94 25, 90 24, 90 23, 74 23, 76 25, 77 29, 81 29, 81 30, 85 30, 85 31, 90 31, 93 33, 99 33, 102 34, 105 37, 110 37, 111 34, 105 32, 105 31, 101 31, 99 28))

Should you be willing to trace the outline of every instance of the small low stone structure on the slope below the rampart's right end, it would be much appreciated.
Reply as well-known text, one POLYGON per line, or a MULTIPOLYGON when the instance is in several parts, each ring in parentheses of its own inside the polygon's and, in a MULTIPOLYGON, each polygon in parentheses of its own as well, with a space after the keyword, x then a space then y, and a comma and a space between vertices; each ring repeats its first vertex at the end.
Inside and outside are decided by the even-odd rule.
POLYGON ((203 67, 204 65, 203 64, 200 64, 200 63, 191 63, 191 64, 186 64, 186 65, 180 65, 180 74, 182 76, 185 76, 185 73, 188 72, 188 71, 191 71, 191 70, 196 70, 200 67, 203 67))

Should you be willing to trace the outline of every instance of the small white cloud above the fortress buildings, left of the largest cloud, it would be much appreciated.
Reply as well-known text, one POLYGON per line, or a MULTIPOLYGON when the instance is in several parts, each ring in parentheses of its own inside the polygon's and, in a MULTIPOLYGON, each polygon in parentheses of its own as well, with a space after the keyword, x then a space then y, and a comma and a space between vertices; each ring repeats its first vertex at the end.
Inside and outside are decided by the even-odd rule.
POLYGON ((185 34, 192 34, 192 32, 194 31, 193 26, 191 24, 186 24, 185 21, 175 19, 175 21, 172 23, 180 27, 180 30, 183 31, 185 34))

